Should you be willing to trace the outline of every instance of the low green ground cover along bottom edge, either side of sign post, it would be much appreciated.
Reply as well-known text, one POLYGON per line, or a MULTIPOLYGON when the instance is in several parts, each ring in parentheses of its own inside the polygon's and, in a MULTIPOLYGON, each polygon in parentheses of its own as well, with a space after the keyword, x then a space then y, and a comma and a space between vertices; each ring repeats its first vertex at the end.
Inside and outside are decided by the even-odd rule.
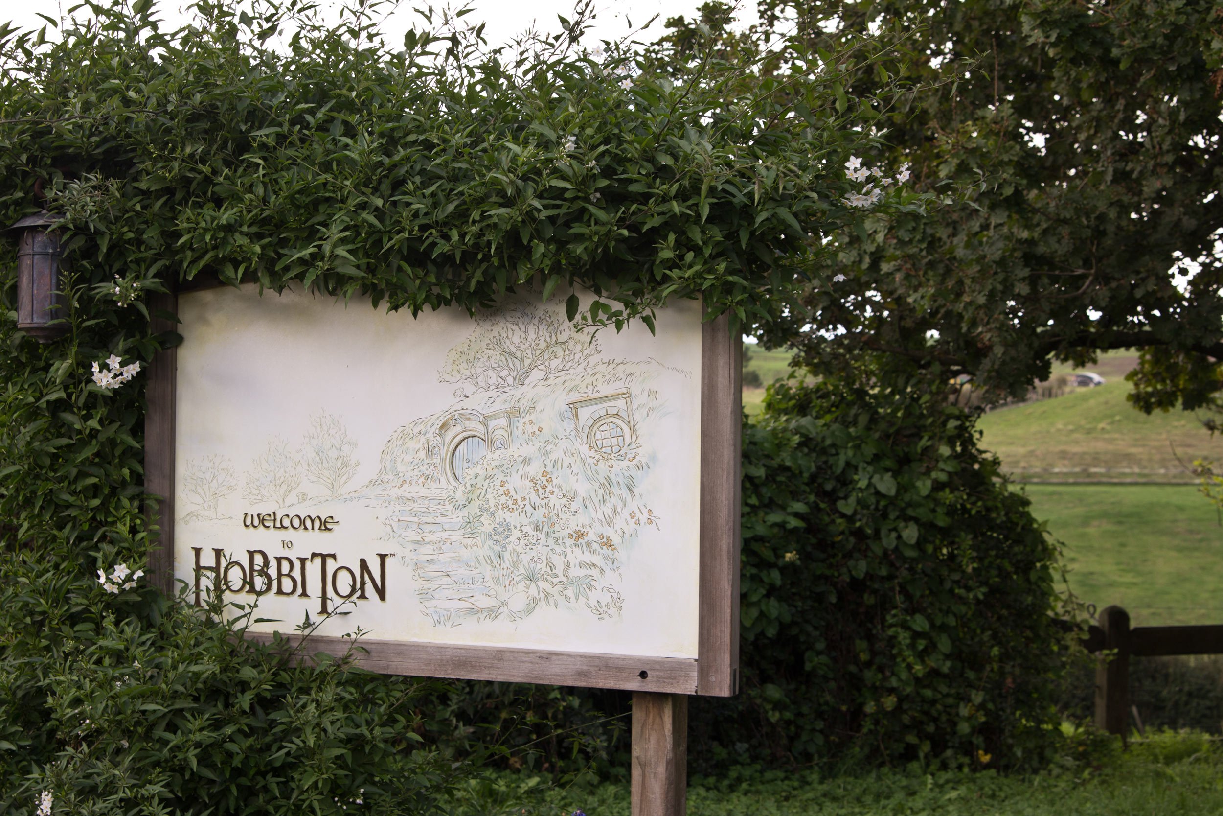
MULTIPOLYGON (((866 774, 788 773, 740 768, 693 778, 691 816, 1213 816, 1223 812, 1223 757, 1201 733, 1166 732, 1087 749, 1073 744, 1042 773, 879 770, 866 774), (1079 751, 1079 747, 1086 750, 1079 751)), ((471 783, 456 816, 629 816, 624 784, 578 781, 550 787, 538 777, 471 783)))

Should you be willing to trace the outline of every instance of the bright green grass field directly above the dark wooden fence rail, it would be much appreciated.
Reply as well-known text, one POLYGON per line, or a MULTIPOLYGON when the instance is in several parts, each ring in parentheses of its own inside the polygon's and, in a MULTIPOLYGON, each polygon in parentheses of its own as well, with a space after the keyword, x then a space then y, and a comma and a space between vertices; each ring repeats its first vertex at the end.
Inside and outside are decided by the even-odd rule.
POLYGON ((1032 514, 1065 543, 1071 591, 1134 625, 1223 621, 1223 527, 1185 484, 1027 484, 1032 514))

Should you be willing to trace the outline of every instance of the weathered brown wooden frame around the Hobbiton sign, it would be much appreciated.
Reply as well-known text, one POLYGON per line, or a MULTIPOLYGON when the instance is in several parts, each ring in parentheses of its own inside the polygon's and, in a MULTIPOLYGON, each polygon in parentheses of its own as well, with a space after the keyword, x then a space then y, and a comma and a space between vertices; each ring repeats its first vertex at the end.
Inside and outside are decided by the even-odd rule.
MULTIPOLYGON (((176 330, 177 295, 149 303, 154 332, 176 330)), ((544 683, 663 694, 730 696, 739 686, 739 506, 742 345, 726 316, 701 341, 701 531, 697 657, 634 657, 497 646, 362 639, 362 667, 384 674, 544 683)), ((144 486, 158 525, 149 580, 175 592, 174 472, 177 351, 148 368, 144 486)), ((251 635, 268 641, 270 635, 251 635)), ((291 640, 296 636, 289 636, 291 640)), ((342 637, 312 635, 307 652, 344 653, 342 637)))

